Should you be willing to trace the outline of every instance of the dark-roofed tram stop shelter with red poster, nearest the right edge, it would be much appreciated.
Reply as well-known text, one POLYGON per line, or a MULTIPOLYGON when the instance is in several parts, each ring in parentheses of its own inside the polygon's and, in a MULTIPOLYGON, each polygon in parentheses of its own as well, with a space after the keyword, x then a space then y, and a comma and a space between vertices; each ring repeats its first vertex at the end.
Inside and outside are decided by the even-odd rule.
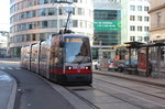
POLYGON ((165 43, 154 42, 139 45, 138 70, 141 75, 160 77, 165 75, 165 43))

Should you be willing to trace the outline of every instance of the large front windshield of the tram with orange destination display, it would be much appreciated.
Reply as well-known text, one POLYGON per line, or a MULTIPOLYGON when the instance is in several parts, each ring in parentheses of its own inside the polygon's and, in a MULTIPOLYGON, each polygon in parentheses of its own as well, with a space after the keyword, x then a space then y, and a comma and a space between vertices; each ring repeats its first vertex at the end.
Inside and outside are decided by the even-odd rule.
POLYGON ((87 37, 69 36, 65 39, 66 63, 89 63, 90 44, 87 37))

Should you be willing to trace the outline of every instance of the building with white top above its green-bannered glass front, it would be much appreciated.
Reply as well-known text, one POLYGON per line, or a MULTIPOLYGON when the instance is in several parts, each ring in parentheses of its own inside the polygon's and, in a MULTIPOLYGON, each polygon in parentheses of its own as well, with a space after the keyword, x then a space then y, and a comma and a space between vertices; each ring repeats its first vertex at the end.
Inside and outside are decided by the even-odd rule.
POLYGON ((99 58, 100 48, 109 50, 111 45, 121 44, 121 10, 120 3, 116 1, 94 1, 95 36, 92 57, 95 59, 99 58))

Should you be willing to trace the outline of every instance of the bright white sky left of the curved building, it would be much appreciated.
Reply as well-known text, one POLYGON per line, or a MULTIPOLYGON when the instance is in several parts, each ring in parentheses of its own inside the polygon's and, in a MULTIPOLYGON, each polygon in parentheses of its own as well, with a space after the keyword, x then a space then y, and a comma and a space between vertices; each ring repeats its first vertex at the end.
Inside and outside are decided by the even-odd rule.
POLYGON ((0 0, 0 31, 10 31, 10 0, 0 0))

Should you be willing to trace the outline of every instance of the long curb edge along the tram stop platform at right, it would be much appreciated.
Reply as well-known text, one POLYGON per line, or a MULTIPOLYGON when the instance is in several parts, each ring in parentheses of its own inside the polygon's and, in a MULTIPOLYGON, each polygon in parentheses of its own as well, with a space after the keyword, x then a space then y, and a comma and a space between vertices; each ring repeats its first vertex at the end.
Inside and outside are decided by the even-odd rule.
MULTIPOLYGON (((144 80, 144 79, 141 79, 141 77, 139 78, 131 78, 131 77, 128 77, 128 76, 124 76, 124 75, 116 75, 116 74, 112 74, 112 73, 109 73, 109 74, 106 74, 105 72, 102 70, 94 70, 95 74, 99 74, 99 75, 106 75, 106 76, 113 76, 113 77, 118 77, 118 78, 123 78, 123 79, 129 79, 129 80, 134 80, 134 81, 139 81, 139 83, 144 83, 144 84, 150 84, 150 85, 154 85, 154 86, 160 86, 160 87, 165 87, 165 83, 155 83, 155 81, 151 81, 151 80, 144 80)), ((147 79, 147 77, 146 77, 147 79)), ((152 78, 153 80, 156 80, 154 78, 152 78)))

